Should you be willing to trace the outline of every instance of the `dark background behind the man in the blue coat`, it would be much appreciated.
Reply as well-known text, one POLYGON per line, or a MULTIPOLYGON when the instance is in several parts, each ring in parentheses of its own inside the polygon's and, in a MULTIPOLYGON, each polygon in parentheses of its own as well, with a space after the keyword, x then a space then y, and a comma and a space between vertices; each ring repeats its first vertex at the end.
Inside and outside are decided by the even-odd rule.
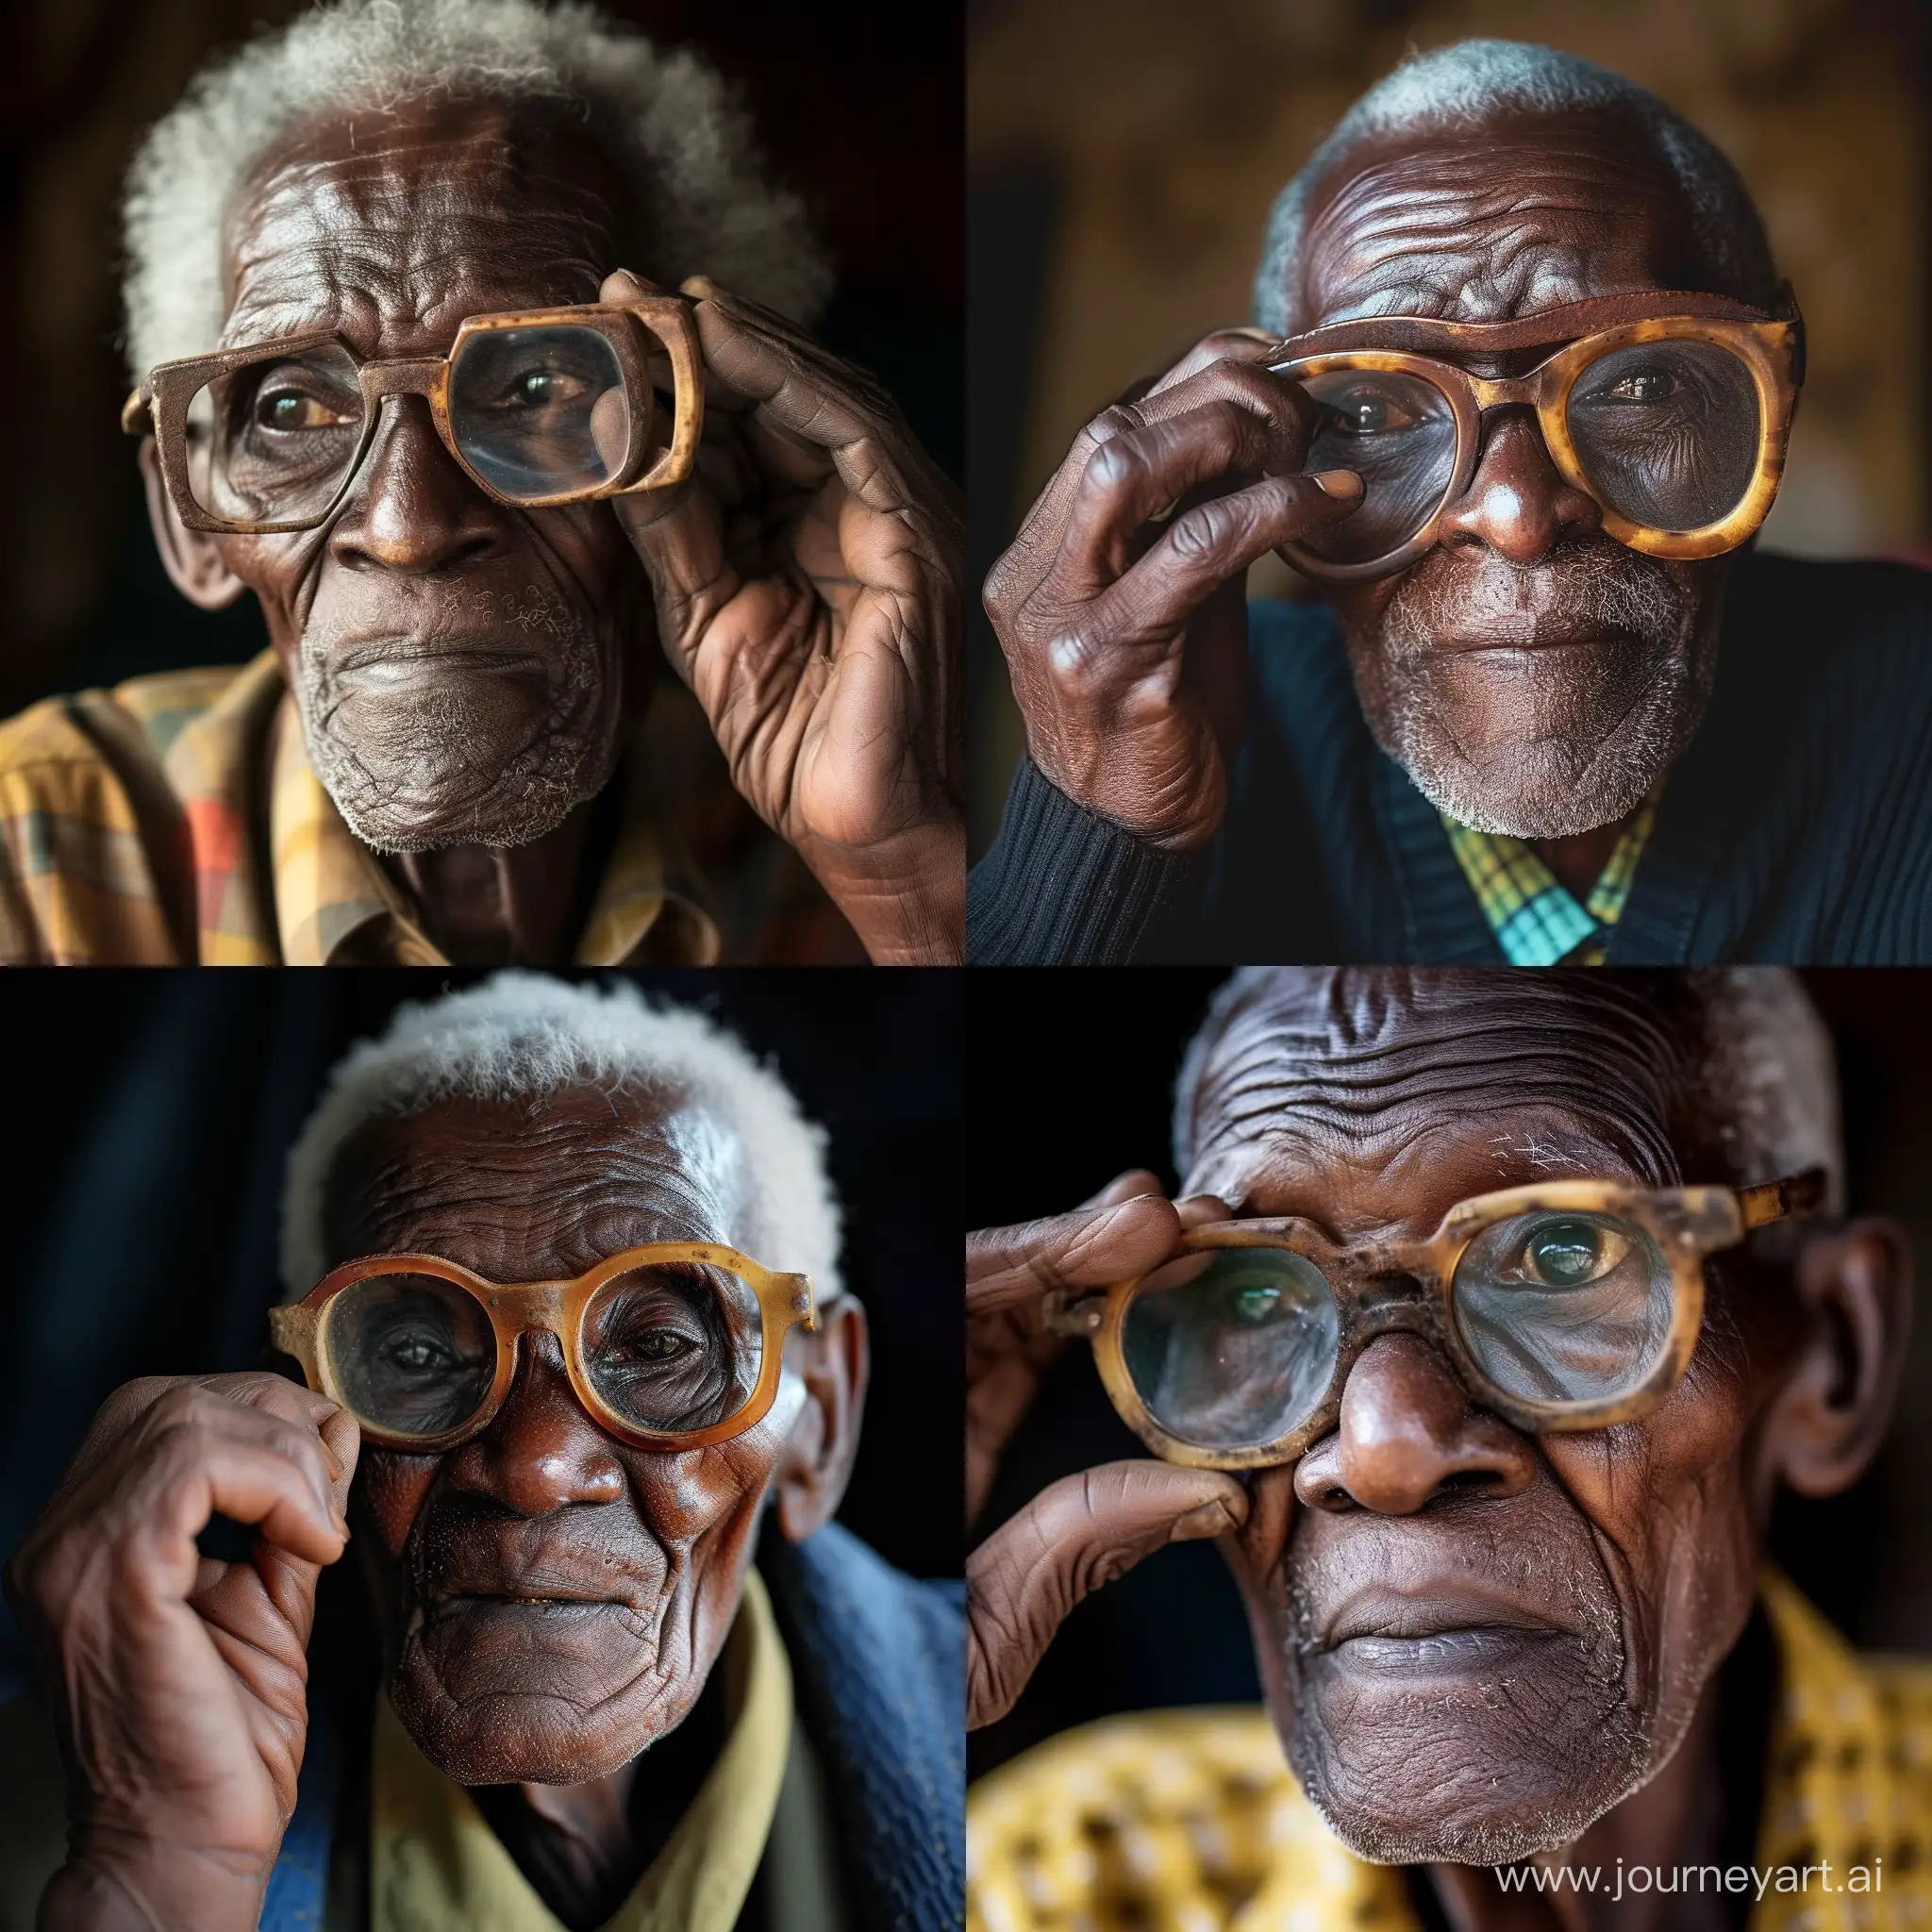
MULTIPOLYGON (((0 1165, 0 1555, 106 1393, 251 1368, 280 1300, 282 1163, 344 1049, 404 999, 479 974, 15 972, 0 1165)), ((574 974, 570 978, 607 978, 574 974)), ((914 1575, 956 1577, 964 978, 630 974, 773 1059, 831 1134, 844 1279, 871 1393, 840 1520, 914 1575)), ((761 1256, 782 1267, 782 1256, 761 1256)), ((0 1702, 27 1663, 0 1609, 0 1702)))

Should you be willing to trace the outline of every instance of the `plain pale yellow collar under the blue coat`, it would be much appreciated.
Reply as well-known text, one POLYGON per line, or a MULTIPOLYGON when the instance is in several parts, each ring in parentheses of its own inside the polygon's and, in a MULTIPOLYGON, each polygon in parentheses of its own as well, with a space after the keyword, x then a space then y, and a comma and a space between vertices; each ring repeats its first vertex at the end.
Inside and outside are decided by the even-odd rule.
MULTIPOLYGON (((726 1671, 732 1727, 668 1843, 605 1932, 732 1932, 771 1835, 792 1745, 792 1669, 757 1571, 726 1671)), ((379 1696, 369 1801, 371 1932, 562 1932, 469 1793, 379 1696)))

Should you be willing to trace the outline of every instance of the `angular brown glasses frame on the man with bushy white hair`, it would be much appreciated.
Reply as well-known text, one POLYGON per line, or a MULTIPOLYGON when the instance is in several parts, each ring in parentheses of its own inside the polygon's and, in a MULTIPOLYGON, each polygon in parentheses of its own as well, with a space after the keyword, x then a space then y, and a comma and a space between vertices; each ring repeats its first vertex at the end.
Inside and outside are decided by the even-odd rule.
POLYGON ((456 328, 456 340, 448 355, 396 355, 383 361, 363 361, 355 355, 332 328, 311 328, 305 334, 284 336, 272 342, 251 342, 247 348, 218 350, 213 355, 187 355, 182 361, 156 363, 147 381, 122 404, 122 429, 128 435, 141 435, 149 423, 155 431, 155 448, 160 456, 160 475, 174 498, 174 508, 187 529, 228 531, 232 535, 276 535, 280 531, 315 529, 334 516, 350 485, 355 481, 375 439, 377 417, 384 396, 423 396, 435 419, 437 435, 450 452, 456 466, 493 502, 510 504, 516 510, 547 510, 560 502, 595 502, 603 497, 630 497, 638 491, 665 489, 682 483, 692 473, 697 460, 697 439, 705 427, 705 384, 703 365, 697 348, 697 327, 692 321, 692 305, 676 296, 641 296, 626 303, 580 303, 564 309, 524 309, 502 315, 469 315, 456 328), (630 398, 630 444, 616 473, 595 489, 558 491, 553 497, 504 497, 469 464, 456 446, 450 431, 450 365, 458 352, 473 336, 498 328, 551 328, 558 325, 595 328, 611 344, 618 367, 624 371, 624 392, 630 398), (643 473, 638 468, 651 446, 651 425, 657 415, 657 398, 651 388, 649 350, 639 336, 649 330, 665 348, 670 359, 670 444, 643 473), (213 516, 195 502, 195 493, 187 479, 187 406, 195 392, 230 369, 259 361, 265 354, 284 352, 298 355, 301 350, 334 344, 355 359, 355 375, 363 394, 363 433, 355 446, 355 458, 342 473, 342 487, 328 504, 315 516, 294 518, 280 524, 249 524, 213 516))

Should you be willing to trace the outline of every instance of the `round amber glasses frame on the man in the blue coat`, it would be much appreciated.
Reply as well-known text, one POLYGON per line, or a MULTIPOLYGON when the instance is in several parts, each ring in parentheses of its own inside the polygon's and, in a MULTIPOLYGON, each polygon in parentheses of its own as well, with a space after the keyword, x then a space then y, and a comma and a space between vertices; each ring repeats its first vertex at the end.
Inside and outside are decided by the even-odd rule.
MULTIPOLYGON (((363 1437, 384 1449, 408 1449, 415 1455, 435 1455, 452 1449, 460 1441, 487 1430, 510 1383, 516 1378, 516 1339, 533 1329, 549 1329, 562 1349, 564 1368, 570 1374, 570 1387, 589 1414, 622 1441, 639 1449, 709 1449, 713 1443, 730 1441, 746 1430, 765 1420, 767 1410, 779 1393, 779 1376, 784 1368, 784 1337, 794 1325, 808 1335, 817 1333, 819 1314, 811 1296, 811 1283, 806 1275, 775 1275, 769 1267, 759 1267, 748 1254, 724 1248, 713 1240, 659 1240, 643 1248, 626 1248, 622 1254, 607 1256, 589 1273, 576 1281, 522 1281, 502 1285, 485 1281, 481 1275, 444 1262, 439 1254, 365 1254, 355 1262, 344 1262, 330 1269, 299 1300, 269 1310, 269 1333, 276 1349, 292 1354, 299 1364, 309 1387, 317 1395, 327 1395, 332 1403, 350 1405, 342 1399, 336 1378, 328 1366, 328 1350, 323 1347, 328 1304, 348 1287, 369 1275, 435 1275, 469 1293, 489 1316, 497 1333, 497 1378, 491 1383, 483 1405, 466 1422, 437 1435, 410 1435, 398 1430, 384 1430, 373 1422, 361 1424, 363 1437), (723 1267, 748 1283, 757 1294, 763 1354, 759 1358, 757 1385, 744 1405, 723 1422, 713 1422, 701 1430, 639 1430, 626 1422, 603 1401, 583 1366, 583 1310, 591 1296, 612 1277, 632 1267, 651 1265, 703 1265, 723 1267)), ((350 1414, 355 1414, 350 1408, 350 1414)))

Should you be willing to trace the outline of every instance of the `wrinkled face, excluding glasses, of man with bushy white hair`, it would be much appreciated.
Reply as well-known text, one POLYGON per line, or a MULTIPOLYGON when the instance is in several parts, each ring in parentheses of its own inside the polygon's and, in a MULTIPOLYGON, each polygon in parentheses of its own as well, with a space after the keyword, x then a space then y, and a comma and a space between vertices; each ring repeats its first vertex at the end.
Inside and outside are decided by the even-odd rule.
MULTIPOLYGON (((618 214, 582 139, 504 108, 321 122, 238 205, 220 346, 338 328, 363 357, 442 355, 468 315, 595 301, 618 214)), ((527 844, 611 777, 643 574, 609 506, 491 502, 410 396, 332 522, 216 541, 377 850, 527 844)))

